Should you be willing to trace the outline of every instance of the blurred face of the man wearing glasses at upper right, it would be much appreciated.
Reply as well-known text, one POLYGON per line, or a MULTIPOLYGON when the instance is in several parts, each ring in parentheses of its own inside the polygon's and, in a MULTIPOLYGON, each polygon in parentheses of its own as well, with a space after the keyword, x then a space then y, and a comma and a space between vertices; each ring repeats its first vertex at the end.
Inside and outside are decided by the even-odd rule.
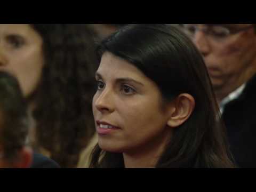
POLYGON ((184 24, 183 29, 201 51, 217 97, 223 99, 256 73, 254 25, 184 24))

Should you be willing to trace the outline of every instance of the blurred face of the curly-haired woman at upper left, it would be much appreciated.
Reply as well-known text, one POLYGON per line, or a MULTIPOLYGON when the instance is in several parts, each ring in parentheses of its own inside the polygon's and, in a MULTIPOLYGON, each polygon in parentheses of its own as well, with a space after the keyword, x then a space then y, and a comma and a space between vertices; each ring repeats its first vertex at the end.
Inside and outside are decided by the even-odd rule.
POLYGON ((0 70, 18 78, 26 97, 41 78, 43 40, 29 24, 0 24, 0 70))

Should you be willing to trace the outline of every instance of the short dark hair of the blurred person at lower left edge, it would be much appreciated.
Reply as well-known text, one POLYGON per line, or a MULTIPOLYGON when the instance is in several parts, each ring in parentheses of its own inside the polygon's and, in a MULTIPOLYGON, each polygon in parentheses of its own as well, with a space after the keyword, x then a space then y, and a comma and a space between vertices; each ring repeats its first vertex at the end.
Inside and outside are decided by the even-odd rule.
POLYGON ((4 158, 13 162, 26 144, 28 116, 17 79, 4 71, 0 71, 0 117, 0 141, 4 158))

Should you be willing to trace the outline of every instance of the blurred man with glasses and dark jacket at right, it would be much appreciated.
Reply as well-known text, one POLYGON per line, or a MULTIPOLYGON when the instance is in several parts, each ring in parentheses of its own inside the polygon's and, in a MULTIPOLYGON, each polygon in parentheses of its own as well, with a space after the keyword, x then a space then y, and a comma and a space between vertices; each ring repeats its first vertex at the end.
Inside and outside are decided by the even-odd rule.
POLYGON ((256 167, 255 24, 181 26, 204 57, 236 163, 256 167))

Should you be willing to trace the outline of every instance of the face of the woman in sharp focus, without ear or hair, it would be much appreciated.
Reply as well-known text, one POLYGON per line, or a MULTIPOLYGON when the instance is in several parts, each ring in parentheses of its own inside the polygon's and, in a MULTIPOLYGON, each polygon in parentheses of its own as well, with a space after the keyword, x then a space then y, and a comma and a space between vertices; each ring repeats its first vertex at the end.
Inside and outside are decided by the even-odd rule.
POLYGON ((109 52, 103 54, 96 79, 93 113, 101 149, 141 153, 169 142, 169 113, 153 81, 109 52))

